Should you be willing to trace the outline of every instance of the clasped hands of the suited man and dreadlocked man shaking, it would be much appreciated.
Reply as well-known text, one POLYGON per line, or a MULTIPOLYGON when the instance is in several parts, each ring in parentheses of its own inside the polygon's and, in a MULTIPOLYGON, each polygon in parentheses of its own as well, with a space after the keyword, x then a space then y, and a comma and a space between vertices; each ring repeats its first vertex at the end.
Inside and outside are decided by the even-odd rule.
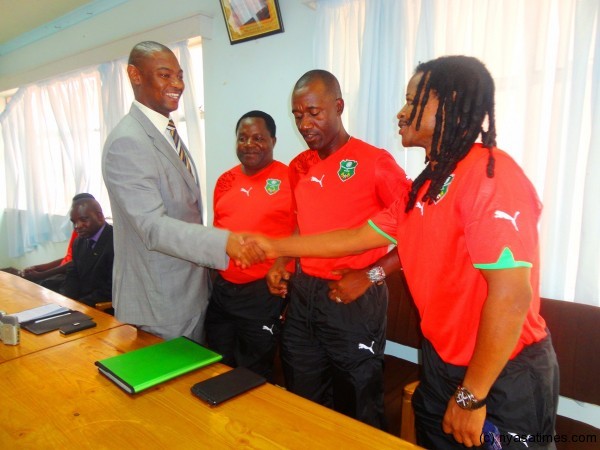
POLYGON ((230 233, 227 241, 227 254, 242 269, 266 259, 275 259, 275 241, 259 234, 230 233))

